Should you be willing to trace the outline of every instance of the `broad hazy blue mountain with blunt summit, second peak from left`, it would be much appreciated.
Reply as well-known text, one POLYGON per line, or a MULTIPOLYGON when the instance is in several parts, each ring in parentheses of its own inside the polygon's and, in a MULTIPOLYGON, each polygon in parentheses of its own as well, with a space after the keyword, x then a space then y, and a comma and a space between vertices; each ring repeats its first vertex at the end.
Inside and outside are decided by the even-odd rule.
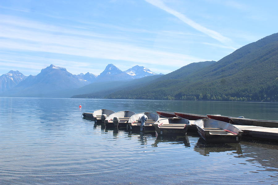
POLYGON ((28 76, 17 86, 5 92, 6 96, 43 97, 43 94, 62 89, 79 88, 89 82, 79 79, 65 68, 51 64, 36 76, 28 76))

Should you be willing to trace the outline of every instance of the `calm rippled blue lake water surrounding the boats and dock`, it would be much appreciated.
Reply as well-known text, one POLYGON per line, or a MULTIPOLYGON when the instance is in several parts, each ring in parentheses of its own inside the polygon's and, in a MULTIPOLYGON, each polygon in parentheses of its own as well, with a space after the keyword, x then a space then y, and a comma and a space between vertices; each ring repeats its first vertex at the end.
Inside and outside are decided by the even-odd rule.
POLYGON ((278 184, 278 144, 106 130, 82 112, 278 119, 277 103, 0 98, 0 184, 278 184), (79 109, 79 104, 82 109, 79 109))

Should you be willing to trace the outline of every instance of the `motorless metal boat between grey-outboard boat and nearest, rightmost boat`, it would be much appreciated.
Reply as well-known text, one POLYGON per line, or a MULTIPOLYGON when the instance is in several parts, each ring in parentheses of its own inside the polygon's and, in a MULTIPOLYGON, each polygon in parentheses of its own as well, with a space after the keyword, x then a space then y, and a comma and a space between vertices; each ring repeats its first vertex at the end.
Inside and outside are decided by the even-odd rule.
POLYGON ((172 117, 160 119, 153 126, 158 135, 185 135, 190 123, 187 119, 172 117))

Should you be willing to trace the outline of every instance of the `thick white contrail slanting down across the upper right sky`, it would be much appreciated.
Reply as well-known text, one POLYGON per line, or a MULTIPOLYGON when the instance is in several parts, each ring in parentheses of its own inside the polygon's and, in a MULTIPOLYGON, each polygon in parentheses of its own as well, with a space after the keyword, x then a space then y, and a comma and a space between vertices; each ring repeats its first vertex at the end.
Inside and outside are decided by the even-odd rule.
POLYGON ((154 6, 157 6, 158 8, 160 8, 162 10, 165 10, 166 12, 174 15, 175 17, 177 17, 184 23, 188 24, 189 26, 193 27, 194 29, 203 32, 204 34, 212 37, 213 39, 218 40, 219 42, 221 42, 223 44, 230 45, 230 43, 232 42, 232 40, 230 38, 227 38, 227 37, 221 35, 217 31, 210 30, 210 29, 194 22, 193 20, 187 18, 185 15, 177 12, 176 10, 166 6, 161 0, 145 0, 145 1, 149 2, 150 4, 152 4, 154 6))

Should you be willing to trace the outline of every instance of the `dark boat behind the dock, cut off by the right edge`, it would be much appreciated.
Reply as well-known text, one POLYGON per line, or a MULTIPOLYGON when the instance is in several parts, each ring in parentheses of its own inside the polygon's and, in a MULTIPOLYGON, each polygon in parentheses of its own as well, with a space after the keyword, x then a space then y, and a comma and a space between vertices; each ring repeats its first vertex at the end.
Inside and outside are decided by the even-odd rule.
POLYGON ((246 119, 246 118, 239 118, 239 117, 229 117, 229 119, 232 121, 230 123, 235 125, 252 125, 252 126, 278 128, 278 121, 273 121, 273 120, 256 120, 256 119, 246 119))

